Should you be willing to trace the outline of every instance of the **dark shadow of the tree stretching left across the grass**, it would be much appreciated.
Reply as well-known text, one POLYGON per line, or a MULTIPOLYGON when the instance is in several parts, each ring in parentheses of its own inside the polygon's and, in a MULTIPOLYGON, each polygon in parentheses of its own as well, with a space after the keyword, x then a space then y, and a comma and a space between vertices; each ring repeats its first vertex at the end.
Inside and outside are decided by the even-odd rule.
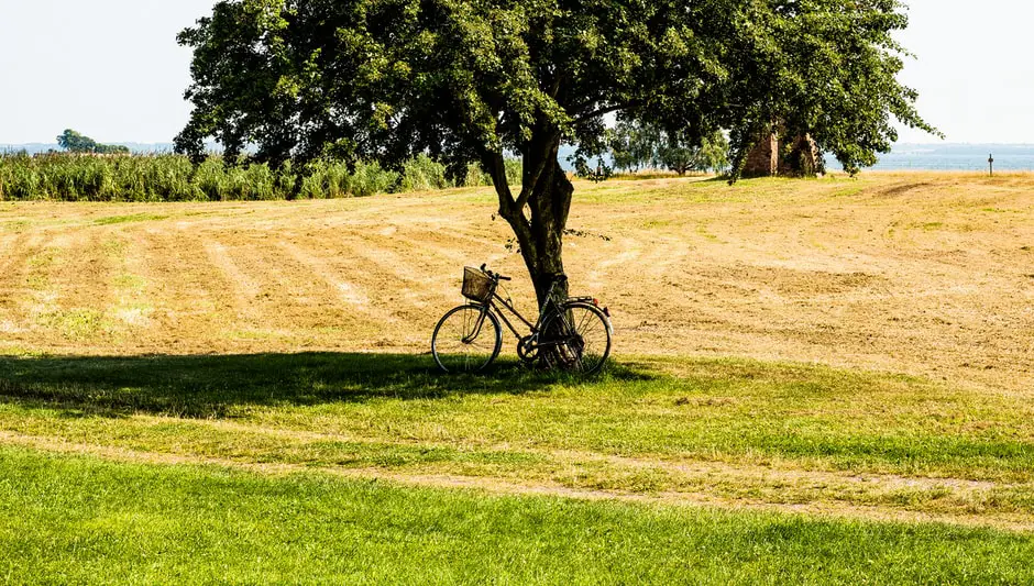
MULTIPOLYGON (((653 376, 612 363, 602 380, 653 376)), ((209 418, 241 406, 514 395, 600 380, 529 371, 506 360, 484 374, 444 375, 430 357, 408 354, 0 356, 0 402, 63 409, 68 417, 209 418)))

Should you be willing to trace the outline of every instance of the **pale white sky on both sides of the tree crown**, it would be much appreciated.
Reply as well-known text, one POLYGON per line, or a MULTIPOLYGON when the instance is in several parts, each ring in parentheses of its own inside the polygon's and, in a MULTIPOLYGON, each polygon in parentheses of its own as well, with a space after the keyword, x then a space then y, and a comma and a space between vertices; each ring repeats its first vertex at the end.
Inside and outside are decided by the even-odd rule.
MULTIPOLYGON (((911 0, 902 80, 948 142, 1034 143, 1034 3, 911 0)), ((175 36, 213 0, 0 0, 0 144, 170 142, 189 115, 175 36)), ((903 142, 934 142, 903 131, 903 142)))

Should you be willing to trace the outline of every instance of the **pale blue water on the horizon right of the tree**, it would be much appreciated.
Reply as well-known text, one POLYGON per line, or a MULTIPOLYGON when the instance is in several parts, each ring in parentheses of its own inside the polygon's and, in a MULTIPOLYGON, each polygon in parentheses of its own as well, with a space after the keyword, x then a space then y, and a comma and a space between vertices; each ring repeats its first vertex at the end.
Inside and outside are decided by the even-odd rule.
MULTIPOLYGON (((988 155, 996 170, 1034 170, 1034 145, 1030 144, 898 144, 879 156, 877 170, 987 170, 988 155)), ((840 165, 827 157, 826 168, 840 165)))

